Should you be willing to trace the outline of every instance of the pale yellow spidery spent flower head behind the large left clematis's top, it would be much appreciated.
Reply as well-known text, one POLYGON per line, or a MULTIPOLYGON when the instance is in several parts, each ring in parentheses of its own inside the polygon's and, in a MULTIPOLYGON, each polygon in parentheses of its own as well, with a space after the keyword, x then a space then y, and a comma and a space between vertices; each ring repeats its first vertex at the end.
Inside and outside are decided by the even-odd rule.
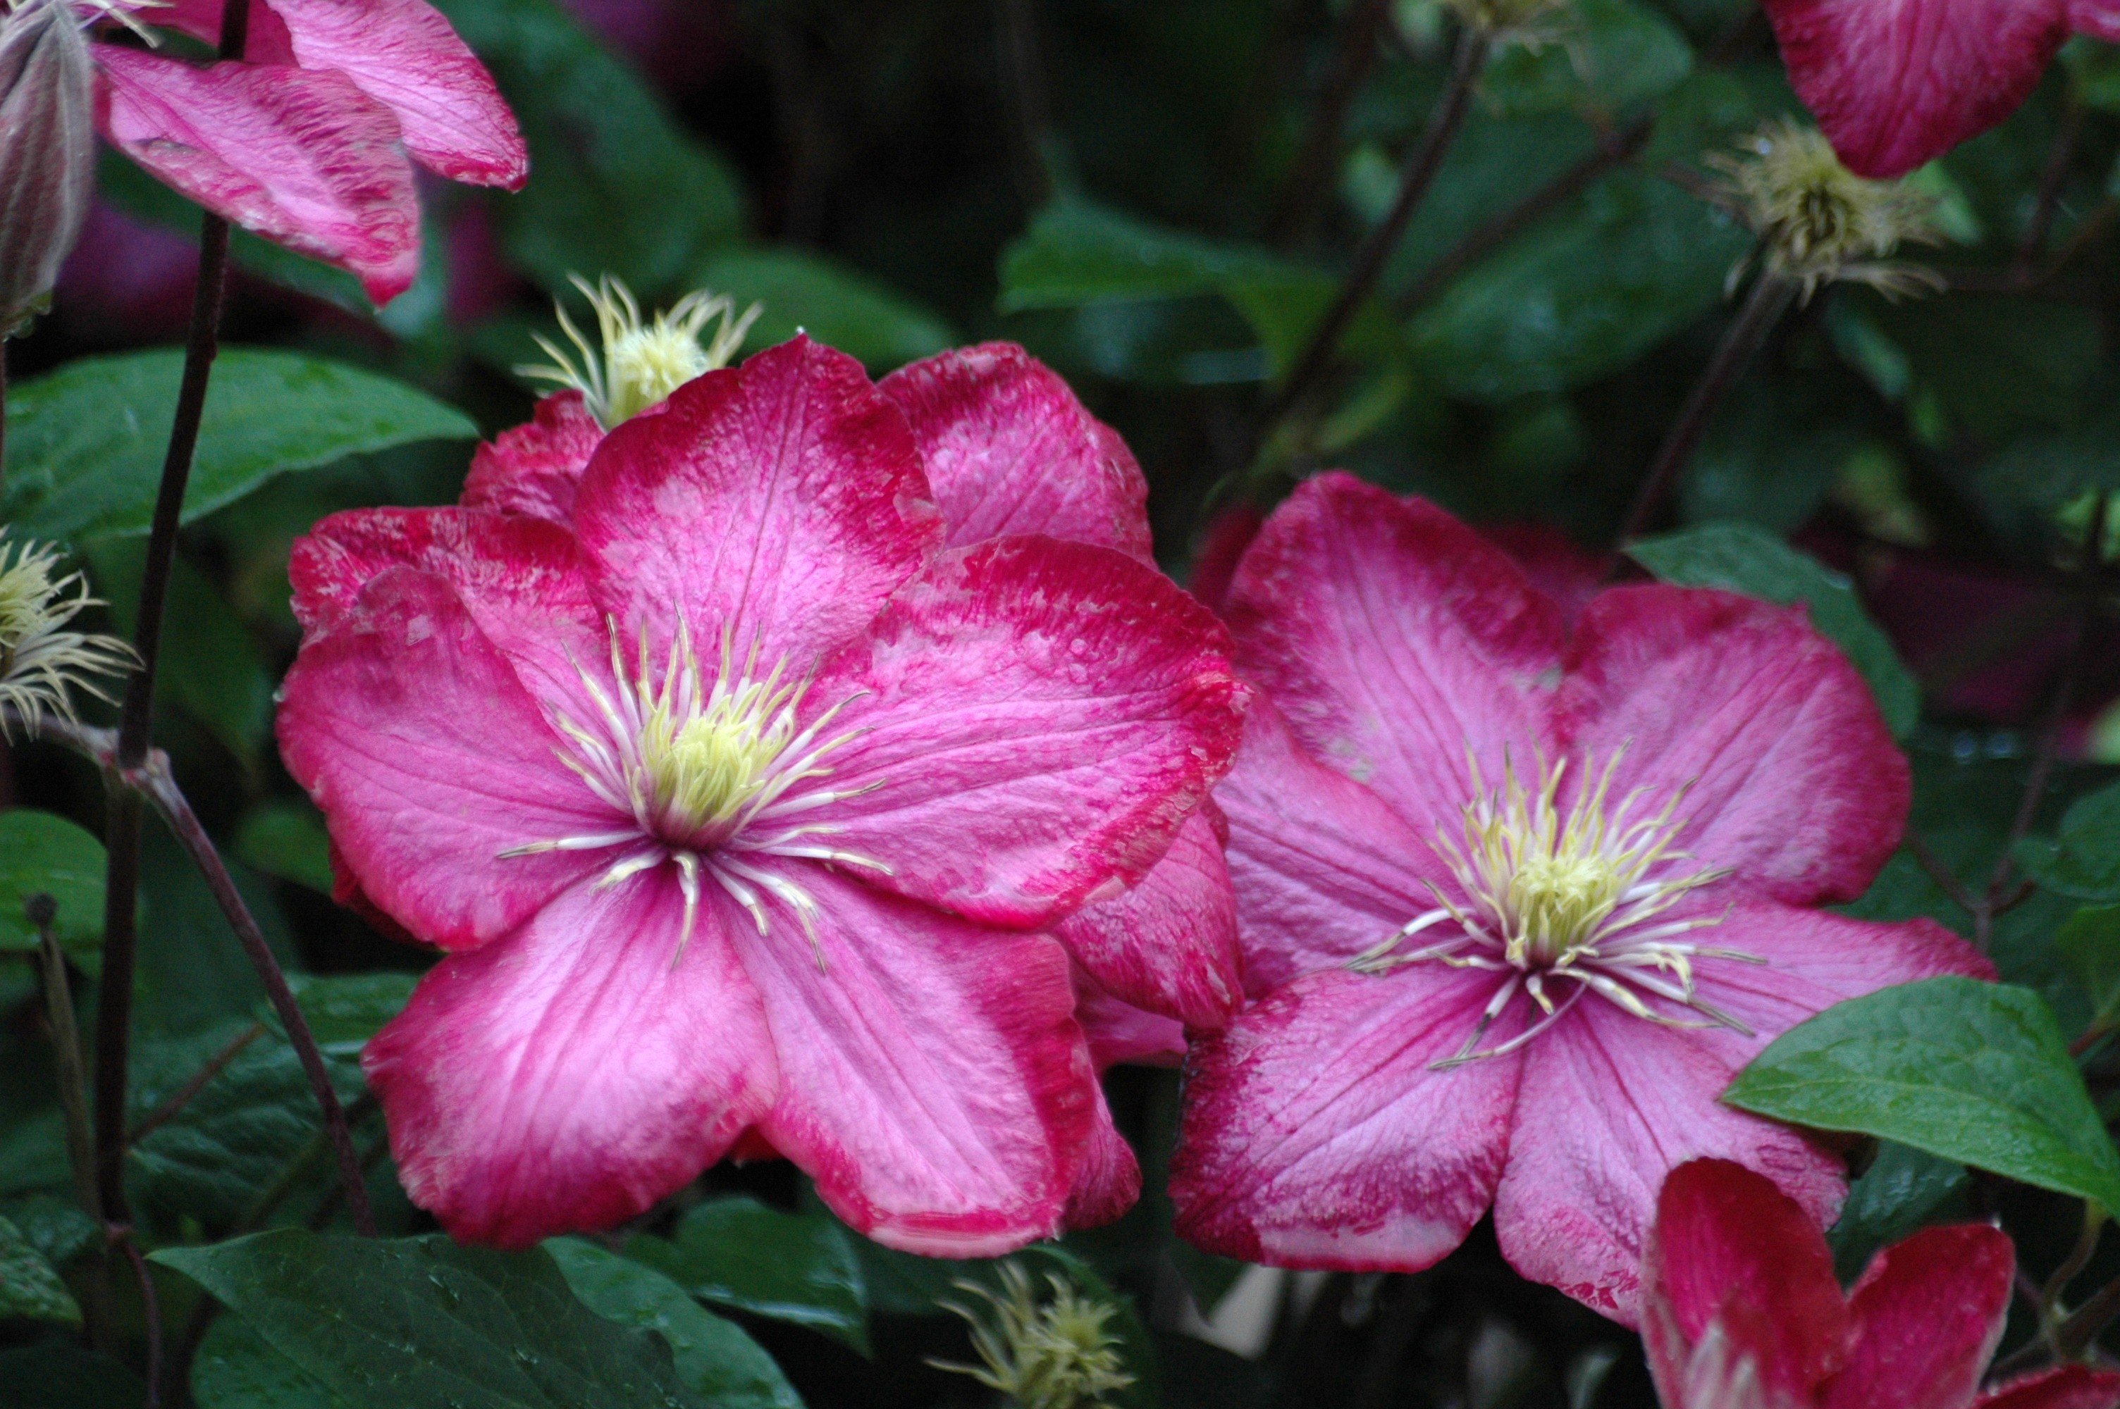
POLYGON ((761 311, 761 305, 753 303, 738 314, 729 295, 695 288, 672 307, 657 311, 653 320, 642 320, 634 292, 613 275, 606 273, 594 286, 579 273, 570 278, 589 307, 596 309, 602 347, 591 347, 575 320, 566 316, 566 307, 553 303, 560 331, 581 354, 581 367, 575 367, 575 358, 566 350, 538 335, 536 345, 551 362, 517 367, 515 373, 579 390, 604 430, 647 411, 693 377, 727 367, 761 311), (717 318, 721 326, 702 343, 700 335, 717 318))

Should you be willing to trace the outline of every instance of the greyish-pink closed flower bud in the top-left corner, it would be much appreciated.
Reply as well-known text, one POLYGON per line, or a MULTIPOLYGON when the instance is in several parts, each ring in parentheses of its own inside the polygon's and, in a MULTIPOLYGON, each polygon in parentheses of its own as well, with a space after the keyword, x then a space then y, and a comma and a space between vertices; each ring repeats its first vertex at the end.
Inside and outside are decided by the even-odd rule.
POLYGON ((51 301, 95 191, 89 42, 66 0, 0 15, 0 337, 51 301))

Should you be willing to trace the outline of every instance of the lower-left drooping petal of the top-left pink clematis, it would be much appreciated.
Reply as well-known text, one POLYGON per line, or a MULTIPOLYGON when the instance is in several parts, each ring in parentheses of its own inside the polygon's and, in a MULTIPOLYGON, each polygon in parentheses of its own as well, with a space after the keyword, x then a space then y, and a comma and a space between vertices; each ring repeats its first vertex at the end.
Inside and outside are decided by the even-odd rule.
POLYGON ((420 269, 420 206, 390 110, 343 74, 195 68, 95 44, 98 125, 208 210, 360 275, 388 303, 420 269))

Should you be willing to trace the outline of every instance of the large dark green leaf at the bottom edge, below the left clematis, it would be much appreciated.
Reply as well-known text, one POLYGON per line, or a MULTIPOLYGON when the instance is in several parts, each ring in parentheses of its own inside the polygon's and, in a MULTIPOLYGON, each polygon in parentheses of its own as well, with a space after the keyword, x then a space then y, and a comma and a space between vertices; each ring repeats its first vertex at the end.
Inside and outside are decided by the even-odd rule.
POLYGON ((708 1403, 668 1345, 581 1305, 538 1250, 278 1229, 153 1256, 358 1409, 708 1403))

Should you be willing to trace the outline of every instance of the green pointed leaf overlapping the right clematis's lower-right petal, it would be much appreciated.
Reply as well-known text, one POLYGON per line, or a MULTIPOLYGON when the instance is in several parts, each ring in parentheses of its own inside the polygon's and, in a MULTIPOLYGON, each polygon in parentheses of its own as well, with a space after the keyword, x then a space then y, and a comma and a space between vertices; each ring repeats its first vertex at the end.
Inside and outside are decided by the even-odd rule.
POLYGON ((1724 1100, 2120 1206, 2120 1153, 2052 1011, 2008 983, 1921 979, 1838 1002, 1774 1038, 1724 1100))

